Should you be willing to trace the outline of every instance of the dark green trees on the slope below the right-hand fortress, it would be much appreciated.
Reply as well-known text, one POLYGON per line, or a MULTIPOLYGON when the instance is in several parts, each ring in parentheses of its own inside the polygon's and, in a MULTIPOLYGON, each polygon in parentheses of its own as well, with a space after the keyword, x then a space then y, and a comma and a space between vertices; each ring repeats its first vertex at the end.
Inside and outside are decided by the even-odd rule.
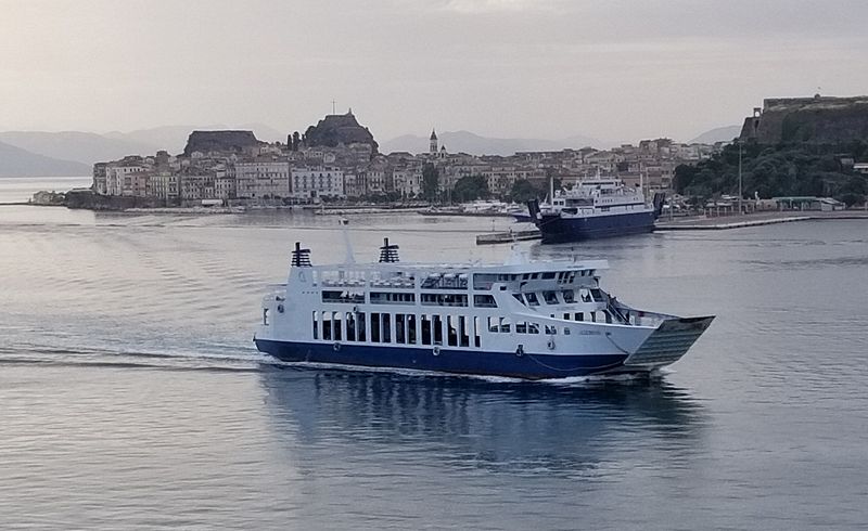
MULTIPOLYGON (((853 171, 853 161, 868 160, 868 142, 813 145, 742 146, 742 191, 745 198, 780 196, 834 197, 847 206, 865 202, 868 178, 853 171)), ((720 194, 738 195, 739 145, 697 166, 675 168, 675 191, 709 199, 720 194)))

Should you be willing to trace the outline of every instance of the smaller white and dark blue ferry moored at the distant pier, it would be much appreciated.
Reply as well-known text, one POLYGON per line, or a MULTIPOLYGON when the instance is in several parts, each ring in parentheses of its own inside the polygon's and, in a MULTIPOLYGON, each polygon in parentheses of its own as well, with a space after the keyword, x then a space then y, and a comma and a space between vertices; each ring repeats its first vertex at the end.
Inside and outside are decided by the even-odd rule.
POLYGON ((649 205, 641 187, 597 176, 552 193, 541 205, 531 202, 528 210, 542 243, 579 242, 652 232, 663 199, 655 194, 649 205))

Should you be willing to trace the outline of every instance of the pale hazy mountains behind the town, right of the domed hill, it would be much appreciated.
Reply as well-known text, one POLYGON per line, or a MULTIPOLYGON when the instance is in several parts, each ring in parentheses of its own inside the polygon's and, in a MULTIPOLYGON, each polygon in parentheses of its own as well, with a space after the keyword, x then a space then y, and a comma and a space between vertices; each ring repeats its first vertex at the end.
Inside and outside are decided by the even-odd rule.
MULTIPOLYGON (((449 153, 468 153, 470 155, 512 155, 516 152, 558 151, 564 148, 597 147, 598 150, 617 145, 590 137, 575 135, 562 140, 542 139, 497 139, 481 137, 470 131, 444 131, 437 133, 439 145, 445 145, 449 153)), ((409 152, 427 153, 429 137, 405 134, 383 142, 382 153, 409 152)))

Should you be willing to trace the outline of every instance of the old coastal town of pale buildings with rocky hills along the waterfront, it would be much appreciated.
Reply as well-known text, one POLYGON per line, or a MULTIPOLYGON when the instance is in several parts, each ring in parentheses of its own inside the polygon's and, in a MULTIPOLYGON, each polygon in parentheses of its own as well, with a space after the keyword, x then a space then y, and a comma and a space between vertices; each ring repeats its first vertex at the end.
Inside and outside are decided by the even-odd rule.
POLYGON ((549 179, 567 183, 602 173, 669 191, 678 165, 705 160, 722 147, 655 139, 611 150, 476 156, 450 152, 432 130, 426 153, 382 154, 350 109, 289 134, 285 143, 261 142, 251 131, 193 131, 181 154, 95 164, 92 190, 150 206, 281 206, 446 199, 465 178, 481 179, 485 196, 513 198, 522 189, 548 190, 549 179))

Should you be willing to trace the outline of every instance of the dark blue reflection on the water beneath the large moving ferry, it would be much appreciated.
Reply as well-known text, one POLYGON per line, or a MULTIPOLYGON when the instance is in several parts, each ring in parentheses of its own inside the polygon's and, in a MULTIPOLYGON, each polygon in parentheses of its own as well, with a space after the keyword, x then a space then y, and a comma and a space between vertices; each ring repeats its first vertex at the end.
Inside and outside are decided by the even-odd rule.
POLYGON ((269 367, 261 383, 275 429, 291 433, 286 448, 302 461, 339 443, 405 459, 419 450, 457 468, 593 475, 618 452, 687 457, 704 424, 687 391, 659 379, 559 385, 269 367))

